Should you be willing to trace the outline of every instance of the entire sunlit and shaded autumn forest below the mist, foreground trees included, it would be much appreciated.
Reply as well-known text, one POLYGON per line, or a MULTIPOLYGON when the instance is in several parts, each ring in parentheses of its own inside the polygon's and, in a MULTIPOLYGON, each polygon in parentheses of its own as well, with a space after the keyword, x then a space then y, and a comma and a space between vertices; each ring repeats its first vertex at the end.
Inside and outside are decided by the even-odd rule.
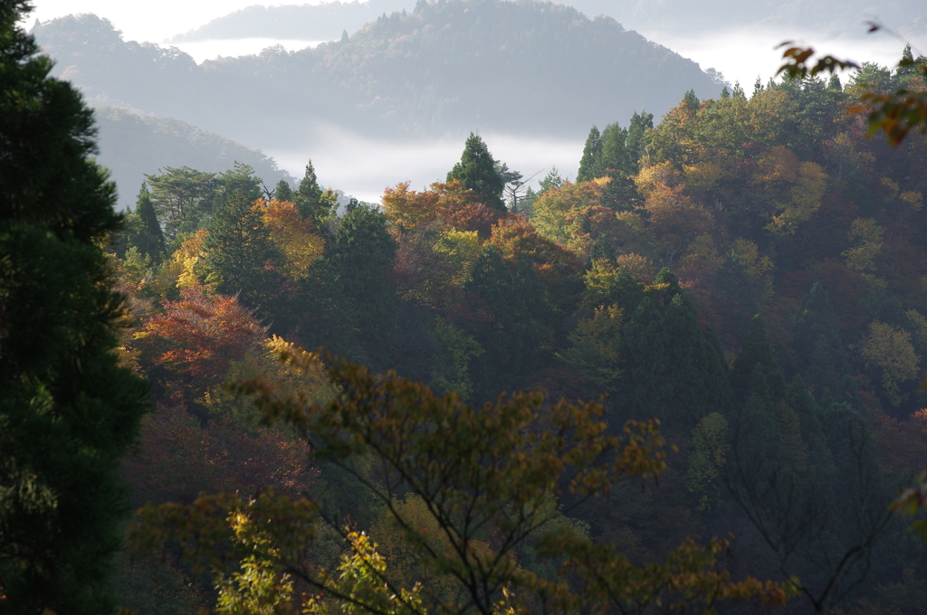
POLYGON ((927 141, 853 107, 927 58, 586 119, 537 191, 474 131, 382 207, 178 158, 121 216, 25 11, 0 609, 921 612, 927 141))

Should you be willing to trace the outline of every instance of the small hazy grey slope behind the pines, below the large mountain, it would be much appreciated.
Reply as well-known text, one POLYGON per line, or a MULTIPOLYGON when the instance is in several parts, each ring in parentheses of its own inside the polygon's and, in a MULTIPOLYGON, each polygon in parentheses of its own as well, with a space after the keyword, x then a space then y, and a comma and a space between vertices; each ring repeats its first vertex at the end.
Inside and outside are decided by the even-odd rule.
POLYGON ((145 174, 162 167, 218 173, 241 162, 254 169, 268 186, 290 179, 260 151, 178 119, 139 116, 119 107, 96 107, 94 115, 100 144, 96 159, 116 181, 122 207, 135 202, 145 174))

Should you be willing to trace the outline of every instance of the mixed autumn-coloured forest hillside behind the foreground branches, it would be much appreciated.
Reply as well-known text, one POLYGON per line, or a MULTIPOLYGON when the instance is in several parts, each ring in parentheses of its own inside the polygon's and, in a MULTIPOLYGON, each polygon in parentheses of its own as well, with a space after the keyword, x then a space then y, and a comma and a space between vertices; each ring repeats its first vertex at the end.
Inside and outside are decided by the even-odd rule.
MULTIPOLYGON (((430 189, 400 183, 382 209, 340 215, 311 166, 273 198, 240 164, 149 176, 113 244, 136 319, 121 353, 158 400, 125 465, 135 504, 308 490, 387 565, 413 562, 384 511, 352 499, 358 479, 299 463, 306 442, 249 422, 222 386, 260 375, 323 401, 322 371, 272 358, 324 346, 476 407, 532 390, 601 398, 610 425, 659 419, 679 451, 660 486, 622 486, 564 521, 630 562, 733 531, 734 571, 795 575, 853 615, 919 612, 927 553, 887 506, 927 465, 927 144, 868 139, 845 109, 864 83, 920 80, 865 65, 845 88, 689 92, 658 124, 593 128, 578 181, 552 172, 518 213, 504 196, 518 180, 476 134, 430 189)), ((181 586, 182 569, 139 565, 146 583, 181 586)), ((389 578, 428 578, 416 570, 389 578)), ((208 599, 194 594, 178 596, 208 599)))

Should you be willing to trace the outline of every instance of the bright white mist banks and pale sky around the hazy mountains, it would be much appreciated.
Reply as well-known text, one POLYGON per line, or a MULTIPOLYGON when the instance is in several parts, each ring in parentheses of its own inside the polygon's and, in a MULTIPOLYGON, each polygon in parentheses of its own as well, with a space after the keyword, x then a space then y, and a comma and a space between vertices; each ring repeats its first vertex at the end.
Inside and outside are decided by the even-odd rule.
MULTIPOLYGON (((578 0, 582 5, 590 0, 578 0)), ((147 41, 162 47, 176 46, 192 56, 197 64, 217 56, 242 56, 260 53, 260 50, 276 44, 288 51, 296 51, 320 41, 295 40, 255 36, 245 39, 211 39, 204 41, 167 43, 177 34, 197 29, 212 19, 228 15, 246 6, 260 4, 277 6, 292 3, 255 3, 254 0, 231 0, 229 2, 165 0, 154 4, 127 5, 112 0, 37 0, 29 23, 34 19, 46 21, 74 13, 94 13, 109 19, 115 28, 122 31, 123 39, 147 41)), ((309 3, 322 4, 318 0, 309 3)), ((414 0, 409 0, 409 9, 414 0)), ((667 22, 667 25, 672 25, 667 22)), ((703 70, 716 69, 730 82, 740 82, 749 95, 753 92, 756 78, 767 82, 781 63, 778 44, 785 40, 803 41, 812 44, 822 52, 844 56, 857 62, 876 61, 893 65, 900 56, 903 41, 883 32, 860 38, 854 32, 839 36, 821 33, 814 29, 796 31, 786 26, 751 25, 747 27, 724 27, 719 25, 713 31, 692 31, 680 34, 678 28, 654 27, 638 30, 648 40, 661 44, 691 58, 703 70)), ((860 23, 859 32, 864 31, 860 23)), ((921 37, 924 38, 924 37, 921 37)), ((924 53, 927 39, 912 41, 915 52, 924 53)), ((841 75, 846 82, 849 75, 841 75)), ((681 95, 681 93, 680 93, 681 95)), ((189 121, 188 118, 177 118, 189 121)), ((625 122, 627 118, 615 118, 625 122)), ((659 118, 655 118, 659 120, 659 118)), ((592 121, 590 120, 590 125, 592 121)), ((208 127, 204 127, 208 128, 208 127)), ((601 127, 600 127, 601 128, 601 127)), ((226 135, 229 136, 229 135, 226 135)), ((545 138, 542 134, 484 133, 493 155, 512 169, 518 169, 525 176, 540 171, 534 184, 556 166, 564 177, 574 178, 582 155, 585 134, 573 139, 545 138)), ((234 136, 232 137, 234 138, 234 136)), ((260 139, 258 140, 260 141, 260 139)), ((408 139, 387 141, 371 138, 360 132, 352 132, 335 126, 321 126, 306 133, 298 146, 272 142, 240 141, 249 148, 260 149, 273 157, 280 169, 301 177, 305 161, 312 158, 318 169, 320 180, 326 185, 354 195, 364 201, 379 201, 383 189, 398 182, 410 181, 413 189, 423 189, 431 182, 442 180, 447 170, 459 159, 463 139, 408 139), (459 143, 458 143, 459 141, 459 143)), ((155 169, 152 169, 154 172, 155 169)), ((134 187, 133 187, 134 188, 134 187)), ((127 195, 128 196, 128 195, 127 195)), ((125 203, 127 199, 121 198, 125 203)))

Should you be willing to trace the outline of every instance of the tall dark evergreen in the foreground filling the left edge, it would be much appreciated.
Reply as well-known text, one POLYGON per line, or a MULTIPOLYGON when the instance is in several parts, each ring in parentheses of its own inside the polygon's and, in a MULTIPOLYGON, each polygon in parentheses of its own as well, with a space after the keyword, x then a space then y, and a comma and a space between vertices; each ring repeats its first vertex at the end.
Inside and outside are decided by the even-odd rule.
POLYGON ((128 513, 120 458, 147 386, 118 365, 120 226, 93 113, 0 3, 0 609, 112 612, 128 513))

